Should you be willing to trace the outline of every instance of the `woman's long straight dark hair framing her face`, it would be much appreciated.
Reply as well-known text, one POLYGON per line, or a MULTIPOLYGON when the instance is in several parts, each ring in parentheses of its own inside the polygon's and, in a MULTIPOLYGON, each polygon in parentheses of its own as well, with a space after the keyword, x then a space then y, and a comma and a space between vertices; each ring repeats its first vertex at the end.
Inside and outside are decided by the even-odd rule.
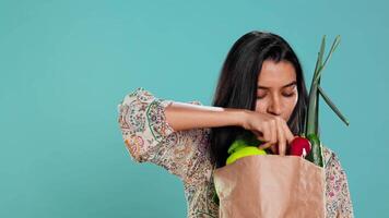
MULTIPOLYGON (((266 60, 275 63, 288 61, 295 68, 298 100, 287 125, 294 135, 302 134, 308 102, 303 70, 286 40, 272 33, 249 32, 233 45, 221 70, 212 105, 254 111, 257 82, 266 60)), ((216 168, 225 165, 229 145, 237 135, 245 132, 247 133, 247 130, 241 126, 211 128, 211 157, 216 168)))

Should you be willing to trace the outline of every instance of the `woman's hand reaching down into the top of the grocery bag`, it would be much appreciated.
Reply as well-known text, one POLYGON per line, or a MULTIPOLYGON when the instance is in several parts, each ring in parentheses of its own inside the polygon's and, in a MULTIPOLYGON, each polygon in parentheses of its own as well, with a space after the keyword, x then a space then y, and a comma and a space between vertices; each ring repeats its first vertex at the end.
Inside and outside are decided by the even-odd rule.
POLYGON ((258 140, 264 142, 259 146, 260 149, 270 147, 274 154, 276 154, 278 149, 281 156, 285 155, 286 146, 295 137, 284 119, 251 110, 247 110, 243 116, 241 126, 251 131, 257 135, 258 140))

